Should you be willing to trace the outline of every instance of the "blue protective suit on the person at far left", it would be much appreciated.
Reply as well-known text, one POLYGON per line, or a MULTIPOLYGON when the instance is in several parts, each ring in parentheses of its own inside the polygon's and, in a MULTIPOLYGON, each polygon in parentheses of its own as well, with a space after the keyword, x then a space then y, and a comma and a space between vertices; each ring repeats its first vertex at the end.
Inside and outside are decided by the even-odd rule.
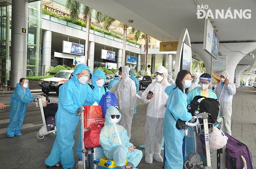
POLYGON ((21 132, 27 105, 28 103, 31 103, 33 97, 35 96, 31 95, 29 88, 25 88, 24 93, 21 84, 16 84, 16 89, 13 91, 10 99, 10 123, 7 128, 7 135, 16 135, 21 132))

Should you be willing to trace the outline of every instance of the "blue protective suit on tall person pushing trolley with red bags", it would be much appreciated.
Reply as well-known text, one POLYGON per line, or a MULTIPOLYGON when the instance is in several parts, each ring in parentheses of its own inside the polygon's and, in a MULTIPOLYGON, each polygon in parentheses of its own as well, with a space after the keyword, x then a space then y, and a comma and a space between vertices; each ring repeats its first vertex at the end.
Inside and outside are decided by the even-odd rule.
MULTIPOLYGON (((84 64, 78 64, 74 69, 74 76, 59 89, 59 106, 55 115, 57 136, 51 154, 45 160, 48 166, 54 166, 61 161, 64 169, 74 167, 74 134, 80 116, 76 111, 80 106, 92 105, 94 94, 90 86, 81 84, 76 74, 90 69, 84 64)), ((80 132, 81 133, 81 132, 80 132)))

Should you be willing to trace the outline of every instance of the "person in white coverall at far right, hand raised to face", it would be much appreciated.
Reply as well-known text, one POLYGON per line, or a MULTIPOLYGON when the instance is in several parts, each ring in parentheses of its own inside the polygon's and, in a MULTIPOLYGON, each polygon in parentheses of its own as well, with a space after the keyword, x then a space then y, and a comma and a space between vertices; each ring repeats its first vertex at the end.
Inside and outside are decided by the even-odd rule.
POLYGON ((225 116, 218 128, 222 128, 223 126, 222 131, 229 135, 231 135, 232 99, 235 91, 234 83, 229 81, 228 72, 223 71, 220 74, 220 83, 213 92, 217 95, 218 101, 220 102, 219 116, 225 116))

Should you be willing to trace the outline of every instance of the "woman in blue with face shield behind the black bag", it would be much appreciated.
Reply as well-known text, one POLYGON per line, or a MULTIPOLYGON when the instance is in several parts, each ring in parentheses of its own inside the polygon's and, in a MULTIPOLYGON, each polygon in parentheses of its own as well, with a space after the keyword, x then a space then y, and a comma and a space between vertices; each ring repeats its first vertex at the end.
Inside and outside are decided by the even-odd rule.
MULTIPOLYGON (((189 91, 187 95, 187 103, 188 105, 193 100, 195 96, 205 96, 208 98, 214 98, 217 99, 217 96, 215 93, 213 93, 213 90, 208 89, 209 85, 211 85, 211 75, 208 73, 204 73, 199 78, 199 85, 198 87, 194 88, 193 90, 189 91)), ((204 98, 202 98, 204 99, 204 98)), ((202 99, 199 99, 198 101, 201 102, 202 99)), ((216 125, 218 127, 218 125, 216 125)), ((185 160, 187 159, 187 156, 191 153, 195 152, 195 145, 194 145, 194 137, 186 137, 186 153, 185 160)))

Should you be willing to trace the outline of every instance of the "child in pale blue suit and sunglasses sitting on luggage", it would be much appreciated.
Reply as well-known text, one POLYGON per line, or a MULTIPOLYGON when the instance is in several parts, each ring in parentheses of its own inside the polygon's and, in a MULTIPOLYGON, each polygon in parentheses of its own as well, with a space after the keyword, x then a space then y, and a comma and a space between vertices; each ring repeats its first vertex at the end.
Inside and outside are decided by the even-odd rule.
POLYGON ((134 149, 129 142, 127 131, 117 123, 121 119, 121 113, 114 106, 110 106, 106 112, 105 126, 100 131, 100 145, 108 159, 116 162, 118 169, 132 169, 137 167, 142 159, 142 151, 134 149), (125 167, 126 158, 129 159, 125 167))

